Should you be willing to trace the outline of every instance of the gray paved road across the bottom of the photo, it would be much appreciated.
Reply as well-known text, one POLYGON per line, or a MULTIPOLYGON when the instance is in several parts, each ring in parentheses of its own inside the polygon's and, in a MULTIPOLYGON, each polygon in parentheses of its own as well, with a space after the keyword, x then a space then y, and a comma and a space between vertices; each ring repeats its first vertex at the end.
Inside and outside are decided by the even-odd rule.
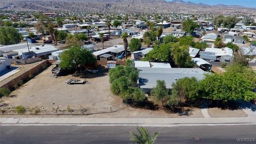
MULTIPOLYGON (((256 138, 256 125, 174 126, 147 127, 147 129, 151 134, 155 131, 159 132, 156 143, 243 143, 237 142, 237 138, 256 138)), ((1 125, 0 131, 1 144, 131 143, 129 132, 135 131, 135 126, 1 125)))

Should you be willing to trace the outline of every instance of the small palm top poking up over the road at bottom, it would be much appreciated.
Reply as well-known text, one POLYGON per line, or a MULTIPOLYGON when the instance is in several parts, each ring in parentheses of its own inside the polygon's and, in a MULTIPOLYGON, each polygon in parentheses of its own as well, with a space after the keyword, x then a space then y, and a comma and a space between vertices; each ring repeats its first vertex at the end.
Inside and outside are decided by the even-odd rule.
POLYGON ((137 131, 139 134, 131 132, 132 137, 130 140, 138 144, 154 144, 158 137, 158 132, 155 132, 151 137, 148 130, 142 126, 137 126, 137 131))

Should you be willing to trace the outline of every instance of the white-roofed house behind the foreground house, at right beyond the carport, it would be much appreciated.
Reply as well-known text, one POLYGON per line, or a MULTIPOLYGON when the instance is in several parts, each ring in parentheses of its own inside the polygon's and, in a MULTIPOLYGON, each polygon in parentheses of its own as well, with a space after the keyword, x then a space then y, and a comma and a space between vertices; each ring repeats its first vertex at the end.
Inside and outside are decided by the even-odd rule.
POLYGON ((206 48, 205 51, 200 52, 200 58, 211 61, 230 62, 233 60, 233 50, 229 47, 206 48))

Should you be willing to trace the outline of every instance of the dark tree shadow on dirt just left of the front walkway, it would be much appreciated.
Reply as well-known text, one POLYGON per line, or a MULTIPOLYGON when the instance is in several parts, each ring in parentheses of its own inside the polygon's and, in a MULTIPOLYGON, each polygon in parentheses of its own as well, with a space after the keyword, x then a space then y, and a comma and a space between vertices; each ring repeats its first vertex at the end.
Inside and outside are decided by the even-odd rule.
POLYGON ((165 106, 163 109, 166 113, 168 114, 178 114, 179 116, 190 116, 193 115, 192 111, 190 108, 185 109, 183 107, 174 107, 171 108, 169 106, 165 106))

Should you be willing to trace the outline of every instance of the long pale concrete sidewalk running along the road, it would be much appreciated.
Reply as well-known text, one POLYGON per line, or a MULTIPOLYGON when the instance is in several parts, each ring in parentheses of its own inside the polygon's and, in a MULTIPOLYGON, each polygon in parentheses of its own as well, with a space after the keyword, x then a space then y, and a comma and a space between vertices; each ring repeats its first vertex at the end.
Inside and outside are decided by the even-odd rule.
POLYGON ((0 124, 256 124, 256 116, 226 118, 0 118, 0 124))

